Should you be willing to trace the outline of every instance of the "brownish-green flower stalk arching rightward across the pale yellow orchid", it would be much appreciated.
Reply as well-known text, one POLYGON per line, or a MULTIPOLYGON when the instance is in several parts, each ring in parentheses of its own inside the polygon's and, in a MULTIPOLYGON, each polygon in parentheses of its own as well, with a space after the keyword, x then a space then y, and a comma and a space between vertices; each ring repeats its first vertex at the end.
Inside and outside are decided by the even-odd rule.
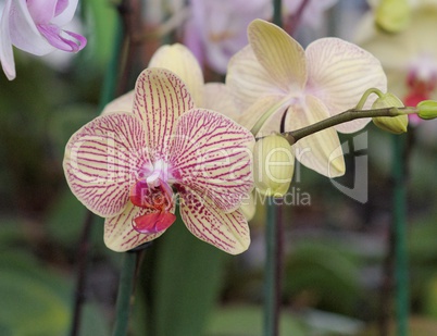
POLYGON ((319 123, 312 124, 310 126, 283 133, 283 136, 290 142, 290 145, 296 144, 301 138, 304 138, 314 133, 321 132, 323 129, 347 123, 357 119, 363 117, 375 117, 375 116, 398 116, 402 114, 415 114, 417 113, 416 108, 385 108, 385 109, 374 109, 374 110, 357 110, 351 109, 342 113, 333 115, 325 119, 319 123))

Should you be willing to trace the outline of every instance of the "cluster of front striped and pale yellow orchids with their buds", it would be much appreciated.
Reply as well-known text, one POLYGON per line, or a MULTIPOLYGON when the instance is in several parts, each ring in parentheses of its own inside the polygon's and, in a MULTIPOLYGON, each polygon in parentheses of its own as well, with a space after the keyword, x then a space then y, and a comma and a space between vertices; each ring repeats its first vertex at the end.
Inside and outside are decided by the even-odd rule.
MULTIPOLYGON (((391 114, 375 114, 374 123, 392 133, 407 129, 403 104, 384 94, 386 75, 370 52, 338 38, 304 50, 263 20, 250 23, 248 39, 232 58, 225 83, 204 84, 183 45, 161 47, 135 89, 70 139, 67 183, 105 219, 110 249, 126 251, 158 238, 175 222, 178 207, 196 237, 240 253, 250 244, 252 192, 284 196, 295 160, 328 177, 342 175, 337 132, 363 128, 372 119, 360 111, 387 108, 391 114), (292 141, 283 136, 342 111, 360 119, 292 141)), ((422 114, 434 117, 435 103, 422 114)))

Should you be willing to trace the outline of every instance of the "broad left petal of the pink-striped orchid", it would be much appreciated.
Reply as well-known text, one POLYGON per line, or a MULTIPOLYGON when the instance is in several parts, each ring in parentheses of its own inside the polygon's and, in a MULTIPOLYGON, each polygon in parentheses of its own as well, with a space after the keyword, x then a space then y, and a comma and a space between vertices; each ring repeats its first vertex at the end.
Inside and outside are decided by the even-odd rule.
POLYGON ((142 123, 130 113, 99 116, 82 127, 65 148, 64 172, 73 194, 103 217, 120 214, 130 186, 148 173, 142 123))

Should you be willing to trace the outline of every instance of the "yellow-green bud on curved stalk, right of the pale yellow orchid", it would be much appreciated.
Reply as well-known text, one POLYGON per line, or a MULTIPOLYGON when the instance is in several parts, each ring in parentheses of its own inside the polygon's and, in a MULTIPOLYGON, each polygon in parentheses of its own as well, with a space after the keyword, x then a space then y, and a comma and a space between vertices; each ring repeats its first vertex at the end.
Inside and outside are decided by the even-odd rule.
MULTIPOLYGON (((372 109, 384 108, 403 108, 402 101, 392 94, 386 94, 375 100, 372 109)), ((373 123, 383 130, 387 130, 394 134, 401 134, 407 132, 408 116, 375 116, 372 119, 373 123)))

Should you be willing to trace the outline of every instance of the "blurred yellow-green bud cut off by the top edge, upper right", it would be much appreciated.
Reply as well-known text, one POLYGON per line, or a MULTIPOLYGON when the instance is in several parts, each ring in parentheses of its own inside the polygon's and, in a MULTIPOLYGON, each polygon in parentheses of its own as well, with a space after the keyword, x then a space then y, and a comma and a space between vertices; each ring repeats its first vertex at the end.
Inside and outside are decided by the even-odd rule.
POLYGON ((399 33, 410 24, 408 0, 382 0, 376 8, 376 25, 387 33, 399 33))

